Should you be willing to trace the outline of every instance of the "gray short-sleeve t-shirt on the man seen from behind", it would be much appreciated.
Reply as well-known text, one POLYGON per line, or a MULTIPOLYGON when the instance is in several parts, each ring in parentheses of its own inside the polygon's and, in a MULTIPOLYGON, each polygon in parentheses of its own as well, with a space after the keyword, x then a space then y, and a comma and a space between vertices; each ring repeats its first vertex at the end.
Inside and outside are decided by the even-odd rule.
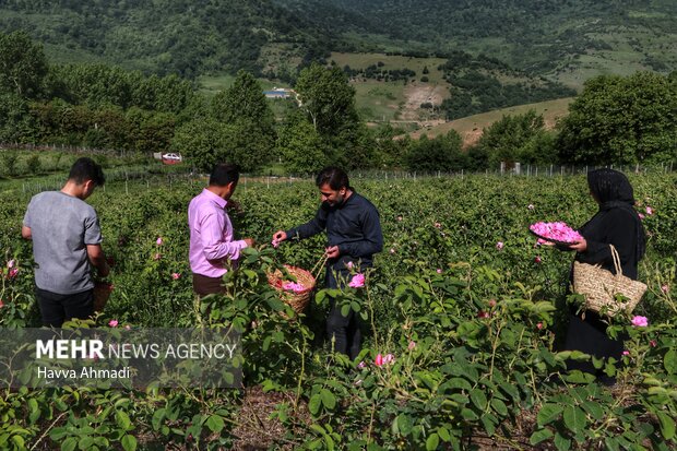
POLYGON ((94 287, 86 245, 100 244, 102 229, 90 204, 61 191, 41 192, 31 199, 24 225, 33 235, 38 288, 71 295, 94 287))

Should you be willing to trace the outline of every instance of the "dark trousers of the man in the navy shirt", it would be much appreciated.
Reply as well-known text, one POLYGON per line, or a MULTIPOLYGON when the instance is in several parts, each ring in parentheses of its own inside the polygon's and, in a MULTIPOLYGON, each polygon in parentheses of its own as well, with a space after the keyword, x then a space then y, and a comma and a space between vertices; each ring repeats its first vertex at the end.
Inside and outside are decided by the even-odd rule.
MULTIPOLYGON (((351 277, 349 272, 345 269, 344 262, 340 265, 328 266, 325 274, 325 285, 329 288, 339 288, 343 286, 351 277), (339 276, 339 281, 335 274, 339 276)), ((355 359, 361 351, 363 333, 360 329, 359 316, 351 309, 348 314, 341 314, 341 306, 336 305, 335 299, 330 301, 331 309, 326 317, 326 336, 330 343, 333 341, 333 348, 336 353, 342 353, 355 359)))

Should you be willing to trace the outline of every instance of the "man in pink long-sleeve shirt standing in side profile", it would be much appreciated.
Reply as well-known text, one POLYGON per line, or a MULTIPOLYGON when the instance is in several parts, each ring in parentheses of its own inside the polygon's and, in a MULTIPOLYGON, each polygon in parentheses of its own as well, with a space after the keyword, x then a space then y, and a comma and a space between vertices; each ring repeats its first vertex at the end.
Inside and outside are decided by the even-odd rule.
POLYGON ((240 175, 237 167, 218 164, 212 170, 210 185, 188 205, 190 250, 188 258, 193 273, 193 289, 200 296, 223 293, 222 276, 230 260, 253 239, 234 239, 233 224, 226 212, 240 175))

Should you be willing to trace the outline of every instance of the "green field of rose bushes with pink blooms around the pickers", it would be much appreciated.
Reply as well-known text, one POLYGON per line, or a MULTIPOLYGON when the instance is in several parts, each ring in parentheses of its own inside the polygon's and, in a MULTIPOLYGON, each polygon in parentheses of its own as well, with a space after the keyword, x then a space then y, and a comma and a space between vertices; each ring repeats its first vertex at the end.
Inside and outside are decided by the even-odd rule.
MULTIPOLYGON (((629 175, 648 233, 622 365, 597 361, 618 383, 568 372, 557 352, 567 324, 573 254, 537 246, 530 225, 577 228, 596 211, 584 176, 465 176, 352 179, 379 210, 384 237, 361 287, 318 287, 306 313, 280 300, 266 274, 310 270, 324 235, 270 245, 309 221, 310 180, 241 180, 229 212, 253 237, 228 293, 194 298, 187 205, 205 179, 110 182, 87 202, 97 211, 115 288, 91 324, 192 328, 242 333, 239 389, 0 390, 0 449, 672 450, 677 447, 677 176, 629 175), (360 358, 331 353, 328 295, 359 312, 360 358), (281 314, 284 313, 284 314, 281 314), (648 324, 634 321, 645 317, 648 324), (112 321, 112 322, 111 322, 112 321), (639 325, 638 325, 639 324, 639 325)), ((37 328, 31 242, 21 222, 29 194, 0 203, 0 327, 37 328)))

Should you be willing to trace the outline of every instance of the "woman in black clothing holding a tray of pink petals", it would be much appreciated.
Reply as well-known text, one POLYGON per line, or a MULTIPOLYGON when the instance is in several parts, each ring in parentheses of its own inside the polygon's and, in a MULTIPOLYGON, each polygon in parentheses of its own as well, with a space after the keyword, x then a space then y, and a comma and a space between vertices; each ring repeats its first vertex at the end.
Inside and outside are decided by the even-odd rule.
MULTIPOLYGON (((644 257, 644 227, 637 211, 632 186, 628 178, 614 169, 597 169, 587 174, 587 186, 599 211, 580 229, 583 240, 570 248, 577 251, 575 260, 583 263, 602 264, 616 273, 609 245, 614 245, 620 258, 623 275, 637 280, 638 262, 644 257)), ((581 351, 597 358, 614 357, 620 360, 623 352, 622 337, 613 340, 606 334, 607 320, 590 310, 572 311, 565 349, 581 351)), ((592 361, 567 363, 567 367, 594 373, 605 384, 614 384, 616 378, 596 370, 592 361)))

